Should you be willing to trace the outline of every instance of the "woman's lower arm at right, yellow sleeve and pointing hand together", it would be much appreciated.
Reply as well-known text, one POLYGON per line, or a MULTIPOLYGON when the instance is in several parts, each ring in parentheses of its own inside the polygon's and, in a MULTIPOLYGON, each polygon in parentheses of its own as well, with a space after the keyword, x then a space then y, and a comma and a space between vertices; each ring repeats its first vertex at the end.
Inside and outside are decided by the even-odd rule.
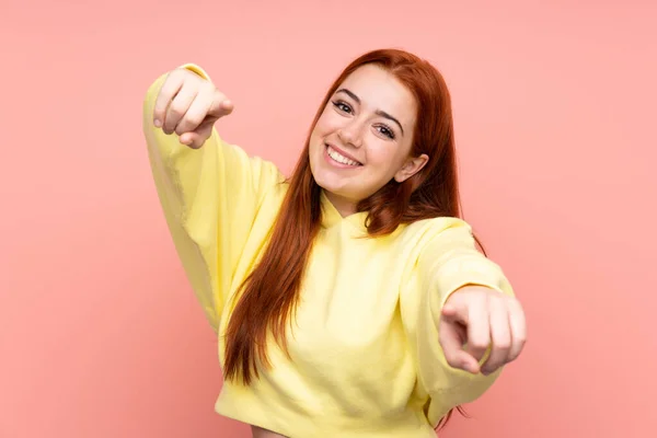
POLYGON ((417 284, 402 296, 431 423, 480 397, 526 339, 522 308, 502 268, 476 250, 466 222, 439 221, 417 260, 417 284))

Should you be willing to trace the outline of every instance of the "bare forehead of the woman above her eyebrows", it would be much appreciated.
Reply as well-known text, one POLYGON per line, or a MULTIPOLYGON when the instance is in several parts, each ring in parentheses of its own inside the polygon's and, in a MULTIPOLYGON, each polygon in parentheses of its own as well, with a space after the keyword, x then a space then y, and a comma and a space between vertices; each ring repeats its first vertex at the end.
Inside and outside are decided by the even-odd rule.
POLYGON ((415 118, 415 97, 402 82, 381 67, 359 67, 338 90, 342 88, 356 94, 367 111, 381 110, 408 123, 415 118))

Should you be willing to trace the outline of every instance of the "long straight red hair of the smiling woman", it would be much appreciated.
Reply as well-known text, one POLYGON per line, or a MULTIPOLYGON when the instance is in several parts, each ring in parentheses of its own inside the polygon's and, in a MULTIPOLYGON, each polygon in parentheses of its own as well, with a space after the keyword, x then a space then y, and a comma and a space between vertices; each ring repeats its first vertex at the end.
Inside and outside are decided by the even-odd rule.
MULTIPOLYGON (((392 180, 358 204, 358 211, 368 211, 368 234, 385 235, 400 223, 420 219, 460 217, 451 100, 442 76, 429 62, 399 49, 380 49, 358 57, 328 89, 310 132, 339 84, 366 64, 394 74, 413 93, 417 122, 411 154, 429 157, 422 171, 408 180, 403 183, 392 180)), ((244 280, 230 316, 226 333, 227 380, 249 384, 258 377, 258 364, 270 366, 266 343, 269 331, 288 354, 286 326, 299 301, 304 268, 321 223, 321 187, 314 181, 309 160, 310 132, 269 242, 261 262, 244 280)))

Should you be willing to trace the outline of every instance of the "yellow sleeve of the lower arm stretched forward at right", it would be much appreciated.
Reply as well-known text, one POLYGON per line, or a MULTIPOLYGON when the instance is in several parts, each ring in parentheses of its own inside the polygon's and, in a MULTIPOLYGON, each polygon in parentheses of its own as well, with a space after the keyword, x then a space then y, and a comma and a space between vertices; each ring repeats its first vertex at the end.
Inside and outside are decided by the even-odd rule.
MULTIPOLYGON (((480 397, 500 373, 472 374, 452 368, 439 342, 443 303, 465 285, 489 287, 514 296, 500 267, 476 250, 471 227, 456 218, 434 233, 416 260, 413 285, 402 296, 402 318, 416 359, 418 383, 428 396, 425 406, 436 426, 449 410, 480 397)), ((485 355, 482 362, 486 359, 485 355)))

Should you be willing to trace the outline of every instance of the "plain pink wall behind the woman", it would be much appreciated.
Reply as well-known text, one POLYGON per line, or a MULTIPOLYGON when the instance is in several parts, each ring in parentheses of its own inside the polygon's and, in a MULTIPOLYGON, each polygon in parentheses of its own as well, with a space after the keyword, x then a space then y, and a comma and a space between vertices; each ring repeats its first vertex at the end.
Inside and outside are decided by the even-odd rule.
POLYGON ((382 46, 445 73, 466 219, 529 318, 443 437, 654 436, 655 2, 72 3, 0 5, 0 437, 247 436, 212 411, 143 93, 201 65, 237 105, 224 137, 287 171, 332 78, 382 46))

